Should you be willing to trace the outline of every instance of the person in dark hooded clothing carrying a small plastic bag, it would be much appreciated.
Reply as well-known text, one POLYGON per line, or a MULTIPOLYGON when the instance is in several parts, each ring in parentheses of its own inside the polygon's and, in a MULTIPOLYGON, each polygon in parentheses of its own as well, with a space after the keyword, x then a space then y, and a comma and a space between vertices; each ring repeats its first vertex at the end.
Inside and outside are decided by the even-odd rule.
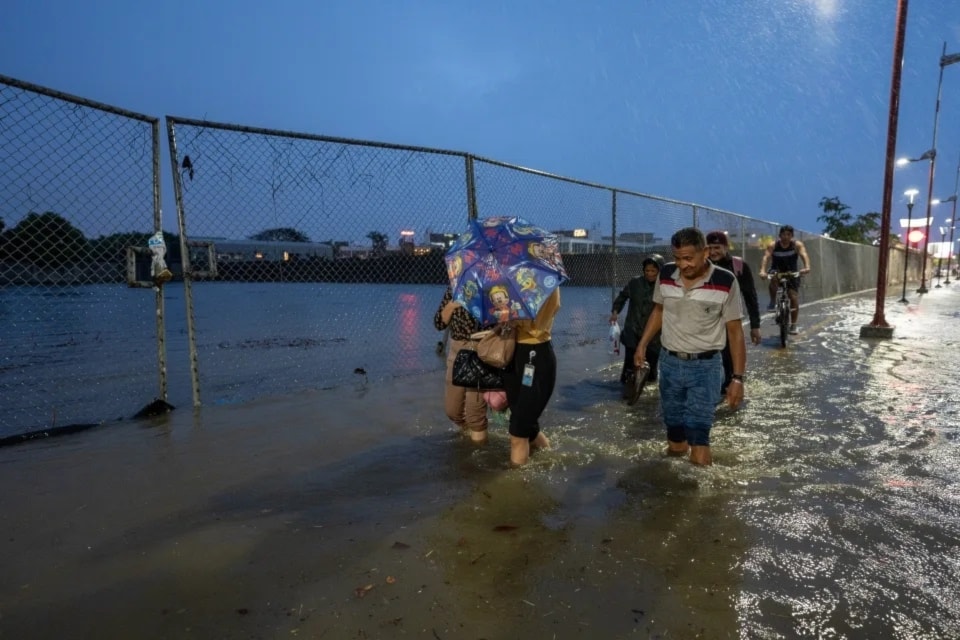
MULTIPOLYGON (((624 351, 623 369, 620 371, 621 384, 626 384, 630 374, 634 371, 633 352, 637 348, 640 336, 643 335, 643 328, 647 324, 647 319, 653 313, 653 288, 662 265, 663 259, 660 256, 644 258, 642 263, 643 275, 632 278, 613 301, 610 322, 617 322, 624 305, 630 303, 627 309, 627 319, 624 321, 623 331, 620 333, 620 342, 623 344, 624 351)), ((650 365, 647 382, 653 382, 657 379, 657 360, 659 358, 660 337, 658 335, 651 341, 650 348, 647 350, 647 364, 650 365)))

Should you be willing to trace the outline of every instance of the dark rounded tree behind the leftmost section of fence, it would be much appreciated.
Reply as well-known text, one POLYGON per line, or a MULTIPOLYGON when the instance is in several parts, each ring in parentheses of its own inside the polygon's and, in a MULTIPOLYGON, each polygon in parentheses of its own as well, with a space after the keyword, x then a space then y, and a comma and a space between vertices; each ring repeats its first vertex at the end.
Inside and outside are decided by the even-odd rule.
POLYGON ((31 211, 3 235, 3 258, 7 260, 60 267, 88 259, 90 246, 83 232, 52 211, 31 211))

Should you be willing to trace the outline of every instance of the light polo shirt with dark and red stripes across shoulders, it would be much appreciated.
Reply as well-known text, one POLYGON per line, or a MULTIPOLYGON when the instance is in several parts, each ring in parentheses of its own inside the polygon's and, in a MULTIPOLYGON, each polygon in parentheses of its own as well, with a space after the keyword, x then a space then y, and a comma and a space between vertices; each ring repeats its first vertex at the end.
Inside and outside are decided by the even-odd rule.
POLYGON ((709 264, 703 278, 689 288, 684 286, 675 263, 663 265, 653 301, 663 305, 660 341, 668 351, 723 349, 727 322, 743 317, 736 276, 714 264, 709 264))

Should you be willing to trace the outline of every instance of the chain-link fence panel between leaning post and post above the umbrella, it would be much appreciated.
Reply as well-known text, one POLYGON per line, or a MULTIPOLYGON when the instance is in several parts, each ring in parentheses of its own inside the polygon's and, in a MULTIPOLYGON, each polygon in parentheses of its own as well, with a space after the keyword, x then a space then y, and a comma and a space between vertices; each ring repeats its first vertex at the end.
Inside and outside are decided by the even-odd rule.
POLYGON ((467 221, 464 154, 175 117, 167 129, 194 402, 436 366, 421 327, 467 221))

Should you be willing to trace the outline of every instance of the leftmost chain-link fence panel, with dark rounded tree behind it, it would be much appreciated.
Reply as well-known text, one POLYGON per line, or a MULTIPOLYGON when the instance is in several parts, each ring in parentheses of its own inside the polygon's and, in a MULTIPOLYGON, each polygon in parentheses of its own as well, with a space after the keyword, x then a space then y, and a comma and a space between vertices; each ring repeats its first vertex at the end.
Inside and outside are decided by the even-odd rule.
POLYGON ((0 438, 165 397, 163 299, 127 284, 160 228, 159 134, 0 76, 0 438))

